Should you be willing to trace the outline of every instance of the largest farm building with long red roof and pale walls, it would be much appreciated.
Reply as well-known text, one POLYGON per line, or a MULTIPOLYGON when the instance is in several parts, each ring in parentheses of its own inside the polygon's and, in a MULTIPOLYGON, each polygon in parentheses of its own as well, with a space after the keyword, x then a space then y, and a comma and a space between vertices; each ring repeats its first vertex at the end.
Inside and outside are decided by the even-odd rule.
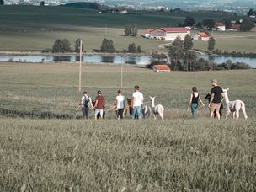
POLYGON ((190 30, 184 27, 157 28, 150 31, 150 37, 155 40, 175 40, 178 36, 184 40, 187 34, 190 35, 190 30))

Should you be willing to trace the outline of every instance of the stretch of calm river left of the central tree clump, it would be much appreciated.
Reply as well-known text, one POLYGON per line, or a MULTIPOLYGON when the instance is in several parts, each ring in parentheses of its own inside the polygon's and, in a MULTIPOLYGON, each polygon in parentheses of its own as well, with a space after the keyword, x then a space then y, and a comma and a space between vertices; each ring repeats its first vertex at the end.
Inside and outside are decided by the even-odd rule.
MULTIPOLYGON (((21 61, 21 62, 74 62, 79 61, 79 56, 0 56, 0 61, 21 61)), ((84 62, 90 63, 128 63, 147 65, 151 62, 151 56, 100 56, 100 55, 86 55, 83 56, 84 62)))

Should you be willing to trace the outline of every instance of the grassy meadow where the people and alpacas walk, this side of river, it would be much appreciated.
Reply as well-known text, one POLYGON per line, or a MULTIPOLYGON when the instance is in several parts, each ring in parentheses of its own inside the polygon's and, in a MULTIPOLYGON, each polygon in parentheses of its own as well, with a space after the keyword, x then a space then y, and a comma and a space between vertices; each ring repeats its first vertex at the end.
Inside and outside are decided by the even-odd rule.
POLYGON ((125 97, 139 84, 146 102, 163 104, 165 120, 115 120, 120 65, 97 64, 83 64, 82 85, 93 98, 102 90, 106 120, 82 120, 77 80, 77 63, 1 63, 1 191, 255 191, 254 70, 124 66, 125 97), (245 102, 248 120, 208 120, 206 108, 191 118, 190 89, 205 96, 211 78, 245 102))

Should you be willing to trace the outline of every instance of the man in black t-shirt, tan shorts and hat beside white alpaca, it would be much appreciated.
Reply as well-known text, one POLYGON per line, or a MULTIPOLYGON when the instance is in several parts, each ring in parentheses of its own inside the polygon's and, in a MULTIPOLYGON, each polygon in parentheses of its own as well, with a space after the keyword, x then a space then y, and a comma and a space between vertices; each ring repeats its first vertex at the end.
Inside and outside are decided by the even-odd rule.
POLYGON ((216 117, 218 120, 221 119, 220 115, 220 108, 221 108, 221 101, 224 99, 223 90, 220 86, 217 84, 217 80, 213 79, 211 80, 211 99, 209 102, 209 108, 210 108, 210 119, 212 119, 214 112, 216 112, 216 117))

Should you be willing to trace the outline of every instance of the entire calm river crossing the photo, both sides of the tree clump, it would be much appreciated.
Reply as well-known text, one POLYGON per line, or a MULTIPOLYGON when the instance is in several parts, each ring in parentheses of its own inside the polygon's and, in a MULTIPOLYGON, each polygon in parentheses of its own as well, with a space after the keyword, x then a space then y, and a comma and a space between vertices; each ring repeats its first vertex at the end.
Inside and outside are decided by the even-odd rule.
MULTIPOLYGON (((208 59, 208 56, 200 56, 208 59)), ((0 56, 0 61, 21 61, 21 62, 59 62, 67 61, 74 62, 79 61, 79 56, 0 56)), ((151 56, 101 56, 101 55, 86 55, 83 56, 84 62, 90 63, 127 63, 127 64, 137 64, 137 65, 147 65, 151 62, 151 56)), ((223 63, 227 60, 232 62, 244 62, 251 67, 256 67, 256 58, 248 57, 235 57, 235 56, 215 56, 214 62, 223 63)))

